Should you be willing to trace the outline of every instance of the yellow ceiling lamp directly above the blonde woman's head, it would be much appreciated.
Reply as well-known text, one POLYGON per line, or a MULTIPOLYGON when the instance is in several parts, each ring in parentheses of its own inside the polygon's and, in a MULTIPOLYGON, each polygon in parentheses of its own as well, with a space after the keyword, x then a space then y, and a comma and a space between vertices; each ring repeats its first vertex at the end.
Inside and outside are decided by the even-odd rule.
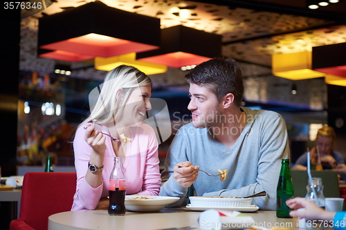
POLYGON ((135 52, 115 57, 95 57, 95 69, 97 70, 110 71, 122 64, 134 66, 147 75, 155 75, 167 71, 167 66, 136 60, 135 52))

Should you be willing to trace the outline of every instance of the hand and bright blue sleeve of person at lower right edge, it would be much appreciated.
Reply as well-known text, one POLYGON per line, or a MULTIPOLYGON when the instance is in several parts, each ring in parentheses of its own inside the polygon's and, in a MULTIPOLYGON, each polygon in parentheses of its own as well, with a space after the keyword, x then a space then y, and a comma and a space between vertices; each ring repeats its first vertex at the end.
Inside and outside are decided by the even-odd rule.
MULTIPOLYGON (((292 217, 305 218, 306 220, 327 220, 328 224, 333 221, 334 229, 345 229, 345 211, 325 211, 325 209, 318 207, 314 202, 305 200, 304 198, 293 198, 287 200, 286 204, 291 209, 295 209, 289 213, 292 217), (297 211, 297 209, 302 208, 305 210, 297 211), (336 223, 338 223, 338 226, 335 225, 336 223)), ((316 223, 320 224, 321 222, 316 223)))

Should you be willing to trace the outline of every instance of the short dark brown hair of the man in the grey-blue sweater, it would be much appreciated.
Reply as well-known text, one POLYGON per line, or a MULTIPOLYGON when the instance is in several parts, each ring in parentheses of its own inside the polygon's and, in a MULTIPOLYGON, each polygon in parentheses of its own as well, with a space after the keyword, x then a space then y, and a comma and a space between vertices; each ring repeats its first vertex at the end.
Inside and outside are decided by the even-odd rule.
POLYGON ((235 96, 236 106, 240 106, 242 102, 244 94, 242 71, 232 58, 217 57, 205 61, 185 75, 185 79, 189 84, 209 88, 219 102, 228 93, 235 96))

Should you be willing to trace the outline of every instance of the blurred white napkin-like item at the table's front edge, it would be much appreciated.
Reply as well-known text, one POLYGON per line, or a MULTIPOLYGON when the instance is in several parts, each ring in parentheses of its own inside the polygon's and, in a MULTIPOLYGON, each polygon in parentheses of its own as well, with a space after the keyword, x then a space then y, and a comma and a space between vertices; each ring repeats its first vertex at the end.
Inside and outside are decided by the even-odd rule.
POLYGON ((239 211, 209 209, 199 215, 202 230, 248 229, 253 223, 253 218, 239 211))

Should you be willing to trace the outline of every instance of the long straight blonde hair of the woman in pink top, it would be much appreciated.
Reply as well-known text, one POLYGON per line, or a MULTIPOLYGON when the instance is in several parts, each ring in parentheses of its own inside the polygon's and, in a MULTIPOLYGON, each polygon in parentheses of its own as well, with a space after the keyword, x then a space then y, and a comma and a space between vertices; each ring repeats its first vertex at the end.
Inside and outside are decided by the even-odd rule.
POLYGON ((152 80, 134 66, 121 65, 107 73, 104 83, 89 93, 90 115, 80 124, 115 124, 122 116, 129 95, 139 86, 152 87, 152 80))

